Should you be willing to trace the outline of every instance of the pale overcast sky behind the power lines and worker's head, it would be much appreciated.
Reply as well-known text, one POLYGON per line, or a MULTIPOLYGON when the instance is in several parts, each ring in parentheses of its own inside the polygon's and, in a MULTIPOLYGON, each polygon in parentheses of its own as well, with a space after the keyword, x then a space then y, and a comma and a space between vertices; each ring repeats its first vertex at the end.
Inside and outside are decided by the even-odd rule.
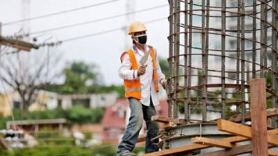
MULTIPOLYGON (((94 3, 102 3, 105 1, 111 0, 1 0, 0 21, 5 24, 9 21, 16 21, 22 18, 47 15, 49 13, 90 6, 94 3), (27 2, 23 3, 23 1, 27 2)), ((4 25, 2 35, 14 35, 20 31, 22 26, 24 26, 24 33, 32 33, 49 28, 90 21, 92 19, 120 15, 127 12, 126 4, 128 1, 132 1, 130 3, 133 3, 133 11, 167 4, 166 0, 119 0, 103 6, 95 6, 93 8, 35 19, 24 23, 4 25)), ((93 24, 43 33, 43 35, 38 37, 38 43, 44 42, 44 40, 51 36, 53 37, 47 40, 47 42, 56 42, 57 40, 65 40, 72 37, 108 31, 113 28, 121 28, 122 26, 128 26, 131 21, 151 21, 153 19, 164 18, 163 20, 146 24, 148 35, 147 44, 154 46, 158 51, 158 55, 167 58, 168 15, 169 8, 165 6, 133 14, 129 16, 130 21, 128 21, 126 16, 123 16, 93 24)), ((122 80, 117 75, 117 69, 120 67, 120 55, 125 50, 126 42, 131 45, 131 40, 126 40, 126 36, 124 31, 113 31, 111 33, 86 37, 80 40, 65 42, 56 49, 51 49, 51 53, 63 53, 63 60, 61 60, 61 65, 58 69, 62 69, 66 62, 72 62, 74 60, 95 63, 98 64, 104 77, 104 83, 107 85, 121 84, 122 80)), ((42 48, 41 51, 45 51, 45 49, 42 48)), ((32 51, 32 53, 41 51, 32 51)))

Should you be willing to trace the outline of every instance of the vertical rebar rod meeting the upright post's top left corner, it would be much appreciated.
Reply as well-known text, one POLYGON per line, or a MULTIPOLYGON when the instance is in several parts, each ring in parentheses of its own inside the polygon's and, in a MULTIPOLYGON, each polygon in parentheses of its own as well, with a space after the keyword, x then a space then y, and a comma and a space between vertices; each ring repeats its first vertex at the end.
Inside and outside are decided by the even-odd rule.
POLYGON ((256 0, 253 0, 252 78, 256 78, 256 0))

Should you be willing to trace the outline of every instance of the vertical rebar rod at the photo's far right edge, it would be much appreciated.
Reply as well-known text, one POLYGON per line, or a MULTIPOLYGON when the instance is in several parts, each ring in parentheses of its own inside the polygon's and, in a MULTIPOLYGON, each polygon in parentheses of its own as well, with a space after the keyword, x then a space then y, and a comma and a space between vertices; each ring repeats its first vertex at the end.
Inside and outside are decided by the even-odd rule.
MULTIPOLYGON (((277 28, 277 12, 275 10, 278 10, 277 8, 277 1, 272 1, 272 92, 277 94, 277 52, 278 52, 278 46, 277 46, 277 40, 278 40, 278 34, 275 28, 277 28)), ((272 107, 277 107, 277 96, 272 96, 272 107)), ((277 128, 277 117, 274 118, 274 122, 272 124, 273 128, 277 128)))

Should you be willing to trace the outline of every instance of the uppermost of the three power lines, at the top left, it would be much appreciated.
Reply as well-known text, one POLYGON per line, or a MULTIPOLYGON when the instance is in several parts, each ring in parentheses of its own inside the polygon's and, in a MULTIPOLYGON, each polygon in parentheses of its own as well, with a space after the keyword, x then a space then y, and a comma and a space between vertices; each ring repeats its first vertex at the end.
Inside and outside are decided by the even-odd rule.
POLYGON ((102 2, 102 3, 92 4, 90 6, 83 6, 83 7, 80 7, 80 8, 74 8, 74 9, 60 11, 60 12, 54 12, 54 13, 51 13, 51 14, 42 15, 42 16, 38 16, 38 17, 31 17, 31 18, 28 18, 28 19, 19 19, 17 21, 10 21, 10 22, 4 23, 4 24, 2 24, 2 26, 6 26, 6 25, 10 25, 10 24, 15 24, 15 23, 19 23, 19 22, 22 22, 22 21, 31 21, 33 19, 41 19, 41 18, 44 18, 44 17, 60 15, 60 14, 64 14, 64 13, 67 13, 67 12, 73 12, 73 11, 76 11, 76 10, 83 10, 83 9, 86 9, 86 8, 92 8, 92 7, 95 7, 95 6, 102 6, 104 4, 113 3, 115 1, 120 1, 120 0, 105 1, 105 2, 102 2))

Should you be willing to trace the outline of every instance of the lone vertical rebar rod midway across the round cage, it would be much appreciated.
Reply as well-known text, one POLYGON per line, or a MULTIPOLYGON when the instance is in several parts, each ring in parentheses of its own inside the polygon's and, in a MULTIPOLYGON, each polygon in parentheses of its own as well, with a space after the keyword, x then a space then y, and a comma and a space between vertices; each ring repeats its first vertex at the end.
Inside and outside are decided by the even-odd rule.
POLYGON ((225 103, 225 51, 226 51, 226 0, 222 0, 222 24, 221 24, 221 29, 222 29, 222 37, 221 37, 221 49, 222 49, 222 58, 221 58, 221 83, 222 83, 222 87, 221 87, 221 105, 222 105, 222 109, 221 109, 221 118, 224 119, 225 118, 225 107, 226 107, 226 103, 225 103))

